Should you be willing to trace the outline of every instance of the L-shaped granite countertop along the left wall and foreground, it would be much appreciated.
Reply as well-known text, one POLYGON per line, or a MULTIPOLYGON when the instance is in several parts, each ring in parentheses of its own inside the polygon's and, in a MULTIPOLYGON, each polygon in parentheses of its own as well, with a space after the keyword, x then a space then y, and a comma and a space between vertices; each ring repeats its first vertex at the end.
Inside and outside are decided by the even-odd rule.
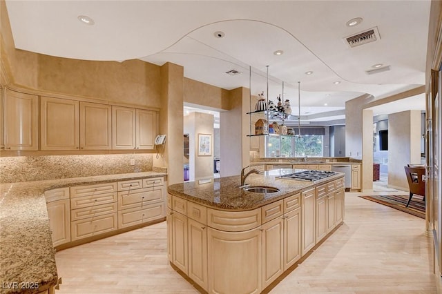
POLYGON ((44 191, 164 176, 143 172, 0 184, 0 293, 39 293, 57 284, 44 191), (32 285, 38 288, 30 289, 32 285))

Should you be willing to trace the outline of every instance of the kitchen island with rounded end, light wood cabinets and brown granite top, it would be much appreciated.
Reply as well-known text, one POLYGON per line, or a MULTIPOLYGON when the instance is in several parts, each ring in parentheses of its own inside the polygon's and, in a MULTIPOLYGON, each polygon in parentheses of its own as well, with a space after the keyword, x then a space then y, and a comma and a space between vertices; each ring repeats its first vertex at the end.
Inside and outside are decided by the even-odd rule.
POLYGON ((260 293, 293 270, 344 217, 342 173, 315 182, 281 179, 296 170, 249 175, 251 186, 278 188, 252 193, 240 176, 187 182, 168 188, 168 257, 200 291, 260 293))

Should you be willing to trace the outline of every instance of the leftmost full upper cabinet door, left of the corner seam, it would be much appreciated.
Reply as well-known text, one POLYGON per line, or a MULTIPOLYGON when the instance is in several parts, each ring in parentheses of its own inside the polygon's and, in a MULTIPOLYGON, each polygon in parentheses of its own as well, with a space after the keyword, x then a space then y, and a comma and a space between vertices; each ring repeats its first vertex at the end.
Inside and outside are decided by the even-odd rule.
POLYGON ((38 96, 6 90, 4 97, 6 150, 38 150, 38 96))

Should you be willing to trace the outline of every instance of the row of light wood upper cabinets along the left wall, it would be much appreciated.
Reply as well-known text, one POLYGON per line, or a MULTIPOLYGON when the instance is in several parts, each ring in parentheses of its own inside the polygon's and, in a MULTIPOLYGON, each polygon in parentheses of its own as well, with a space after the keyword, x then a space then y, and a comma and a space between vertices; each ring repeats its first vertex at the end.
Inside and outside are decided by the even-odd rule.
POLYGON ((155 149, 158 110, 0 90, 1 150, 155 149))

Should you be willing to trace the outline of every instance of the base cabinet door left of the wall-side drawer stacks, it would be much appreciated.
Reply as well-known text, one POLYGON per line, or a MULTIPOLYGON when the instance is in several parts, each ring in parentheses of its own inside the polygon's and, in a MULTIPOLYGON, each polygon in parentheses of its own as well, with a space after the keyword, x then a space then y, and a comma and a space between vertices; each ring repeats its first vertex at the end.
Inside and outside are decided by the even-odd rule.
POLYGON ((70 242, 70 205, 69 199, 48 203, 49 227, 53 246, 70 242))

